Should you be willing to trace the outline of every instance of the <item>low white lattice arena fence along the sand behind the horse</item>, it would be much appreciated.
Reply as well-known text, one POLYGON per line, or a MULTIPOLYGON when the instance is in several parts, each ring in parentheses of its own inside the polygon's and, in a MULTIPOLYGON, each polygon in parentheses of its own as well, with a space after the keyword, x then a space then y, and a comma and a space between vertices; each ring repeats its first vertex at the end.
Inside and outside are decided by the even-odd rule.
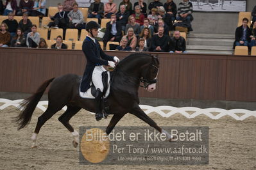
MULTIPOLYGON (((5 98, 0 98, 0 105, 3 103, 0 106, 0 110, 3 110, 9 106, 14 106, 19 108, 20 102, 22 102, 22 99, 8 100, 5 98)), ((45 105, 48 105, 48 101, 40 101, 38 102, 37 108, 42 111, 46 111, 45 105)), ((157 114, 160 114, 160 116, 164 118, 169 118, 174 114, 182 114, 183 116, 189 119, 196 118, 196 116, 204 114, 205 116, 208 116, 212 120, 218 120, 219 118, 222 118, 223 116, 226 116, 226 115, 234 118, 235 120, 245 120, 250 116, 256 117, 256 111, 249 111, 246 109, 231 109, 231 110, 225 110, 225 109, 219 109, 219 108, 200 109, 198 107, 172 107, 168 105, 161 105, 157 107, 153 107, 150 105, 140 105, 140 107, 142 110, 144 110, 144 112, 146 112, 146 114, 150 114, 151 112, 156 112, 157 114)), ((65 111, 67 107, 65 106, 62 109, 65 111)))

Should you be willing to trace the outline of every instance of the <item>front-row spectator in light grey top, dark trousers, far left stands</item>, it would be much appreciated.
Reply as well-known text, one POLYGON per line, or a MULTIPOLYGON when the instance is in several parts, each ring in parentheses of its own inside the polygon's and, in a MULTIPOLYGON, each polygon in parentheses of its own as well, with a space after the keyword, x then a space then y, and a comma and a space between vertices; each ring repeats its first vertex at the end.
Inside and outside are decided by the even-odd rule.
POLYGON ((28 33, 27 35, 26 44, 29 48, 37 48, 39 42, 40 42, 40 35, 37 32, 37 26, 32 25, 31 32, 28 33))

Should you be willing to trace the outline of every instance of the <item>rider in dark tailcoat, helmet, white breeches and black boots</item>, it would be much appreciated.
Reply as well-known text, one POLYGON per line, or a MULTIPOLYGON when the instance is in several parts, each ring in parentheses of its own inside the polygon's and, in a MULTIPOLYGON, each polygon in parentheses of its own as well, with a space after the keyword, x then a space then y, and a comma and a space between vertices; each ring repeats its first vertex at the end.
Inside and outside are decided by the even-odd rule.
POLYGON ((103 105, 102 105, 102 97, 103 97, 103 82, 101 73, 105 72, 105 68, 103 65, 110 66, 112 68, 115 67, 115 62, 119 62, 119 58, 108 56, 103 52, 101 46, 99 45, 96 37, 98 36, 99 25, 90 21, 87 23, 85 29, 88 32, 85 40, 83 41, 83 53, 87 59, 87 64, 85 68, 85 72, 83 73, 83 79, 81 81, 81 92, 85 92, 90 88, 90 82, 92 81, 96 88, 96 96, 95 96, 95 106, 96 106, 96 120, 99 121, 103 118, 103 105))

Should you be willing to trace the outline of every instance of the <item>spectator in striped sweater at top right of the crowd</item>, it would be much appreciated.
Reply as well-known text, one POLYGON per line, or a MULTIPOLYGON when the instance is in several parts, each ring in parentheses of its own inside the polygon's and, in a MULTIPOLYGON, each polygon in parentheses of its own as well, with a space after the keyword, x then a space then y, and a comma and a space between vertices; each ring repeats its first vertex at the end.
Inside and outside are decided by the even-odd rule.
POLYGON ((191 24, 193 6, 189 0, 183 0, 183 2, 178 4, 178 17, 177 20, 186 21, 187 23, 191 24))

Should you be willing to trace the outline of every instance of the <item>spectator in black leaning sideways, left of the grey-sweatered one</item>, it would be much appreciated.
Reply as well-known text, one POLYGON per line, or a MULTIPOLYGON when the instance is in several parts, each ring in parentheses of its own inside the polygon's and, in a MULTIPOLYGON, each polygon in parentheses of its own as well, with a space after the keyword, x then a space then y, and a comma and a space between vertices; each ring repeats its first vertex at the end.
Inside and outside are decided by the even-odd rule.
POLYGON ((68 12, 65 12, 63 10, 63 6, 62 4, 58 4, 58 12, 55 13, 54 16, 50 16, 51 20, 53 20, 53 22, 49 22, 49 24, 47 26, 43 26, 45 28, 63 28, 66 29, 67 28, 67 24, 69 24, 69 17, 67 17, 68 12))

